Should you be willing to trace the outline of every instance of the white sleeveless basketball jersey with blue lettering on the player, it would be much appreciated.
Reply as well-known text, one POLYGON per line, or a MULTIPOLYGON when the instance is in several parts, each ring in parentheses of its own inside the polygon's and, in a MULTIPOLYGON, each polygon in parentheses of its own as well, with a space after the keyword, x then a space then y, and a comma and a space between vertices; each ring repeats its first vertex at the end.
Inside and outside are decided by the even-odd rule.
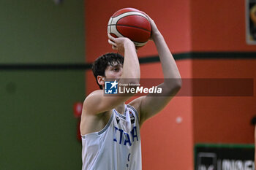
POLYGON ((82 170, 140 170, 141 147, 138 112, 125 105, 116 109, 102 131, 82 136, 82 170))

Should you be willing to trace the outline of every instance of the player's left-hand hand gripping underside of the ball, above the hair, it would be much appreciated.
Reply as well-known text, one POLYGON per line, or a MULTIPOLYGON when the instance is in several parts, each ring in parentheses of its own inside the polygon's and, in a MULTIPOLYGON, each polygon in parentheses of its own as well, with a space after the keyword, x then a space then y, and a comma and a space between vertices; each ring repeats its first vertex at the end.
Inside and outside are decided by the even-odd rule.
POLYGON ((126 43, 132 43, 132 45, 133 45, 133 42, 126 37, 115 38, 115 37, 111 36, 110 34, 108 34, 108 43, 110 45, 112 45, 112 49, 117 50, 118 53, 124 53, 124 45, 126 43))

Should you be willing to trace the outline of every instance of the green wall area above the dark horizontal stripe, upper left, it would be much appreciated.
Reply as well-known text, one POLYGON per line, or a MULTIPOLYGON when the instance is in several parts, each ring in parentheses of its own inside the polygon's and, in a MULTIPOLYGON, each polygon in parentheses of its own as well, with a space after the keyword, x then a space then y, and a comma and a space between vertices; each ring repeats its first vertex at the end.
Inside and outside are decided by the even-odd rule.
POLYGON ((0 63, 84 61, 83 0, 1 0, 0 23, 0 63))

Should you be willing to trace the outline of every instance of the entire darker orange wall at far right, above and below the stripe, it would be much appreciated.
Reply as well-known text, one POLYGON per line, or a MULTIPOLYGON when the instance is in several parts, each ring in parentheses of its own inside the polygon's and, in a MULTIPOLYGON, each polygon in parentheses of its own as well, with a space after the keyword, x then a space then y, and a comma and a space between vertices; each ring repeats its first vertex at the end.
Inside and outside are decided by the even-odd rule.
MULTIPOLYGON (((191 1, 192 51, 255 52, 246 45, 245 1, 191 1)), ((192 60, 194 78, 254 78, 255 59, 192 60)), ((243 56, 241 56, 243 58, 243 56)), ((194 97, 194 142, 252 143, 255 97, 194 97)))

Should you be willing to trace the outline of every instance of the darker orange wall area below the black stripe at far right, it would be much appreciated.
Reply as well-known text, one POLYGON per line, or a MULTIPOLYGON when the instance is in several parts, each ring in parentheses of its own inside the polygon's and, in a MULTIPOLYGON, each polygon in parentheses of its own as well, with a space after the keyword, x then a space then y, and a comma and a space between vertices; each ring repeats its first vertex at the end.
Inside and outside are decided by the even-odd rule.
MULTIPOLYGON (((256 78, 255 60, 193 60, 195 78, 256 78)), ((232 87, 230 87, 232 88, 232 87)), ((254 96, 194 97, 195 143, 253 143, 254 96)))

